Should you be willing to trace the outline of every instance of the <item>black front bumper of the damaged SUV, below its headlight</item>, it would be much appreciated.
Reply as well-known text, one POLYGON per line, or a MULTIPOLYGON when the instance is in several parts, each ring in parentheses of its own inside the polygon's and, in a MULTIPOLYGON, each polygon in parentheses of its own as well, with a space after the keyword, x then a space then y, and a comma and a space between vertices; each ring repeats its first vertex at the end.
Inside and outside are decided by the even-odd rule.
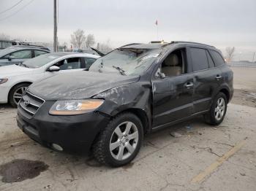
POLYGON ((48 113, 53 103, 46 101, 31 119, 25 117, 18 107, 18 127, 46 147, 58 144, 67 152, 89 153, 94 139, 106 127, 109 118, 99 112, 53 116, 48 113))

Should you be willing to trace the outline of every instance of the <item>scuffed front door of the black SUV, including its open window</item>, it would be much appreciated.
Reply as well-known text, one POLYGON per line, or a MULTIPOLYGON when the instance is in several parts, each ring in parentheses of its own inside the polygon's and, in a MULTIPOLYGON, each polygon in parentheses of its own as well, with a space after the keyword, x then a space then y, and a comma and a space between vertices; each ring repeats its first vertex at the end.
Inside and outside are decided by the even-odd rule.
POLYGON ((185 48, 174 50, 162 61, 151 80, 153 93, 153 128, 159 128, 192 114, 193 74, 187 74, 185 48))

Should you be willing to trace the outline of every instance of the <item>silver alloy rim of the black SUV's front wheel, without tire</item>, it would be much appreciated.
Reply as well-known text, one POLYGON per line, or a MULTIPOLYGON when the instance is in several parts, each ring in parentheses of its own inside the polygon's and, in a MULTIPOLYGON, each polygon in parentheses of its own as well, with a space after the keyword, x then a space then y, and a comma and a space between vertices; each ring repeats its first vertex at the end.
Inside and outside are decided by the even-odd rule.
POLYGON ((135 152, 138 145, 138 128, 133 122, 122 122, 112 133, 110 153, 116 160, 125 160, 135 152))

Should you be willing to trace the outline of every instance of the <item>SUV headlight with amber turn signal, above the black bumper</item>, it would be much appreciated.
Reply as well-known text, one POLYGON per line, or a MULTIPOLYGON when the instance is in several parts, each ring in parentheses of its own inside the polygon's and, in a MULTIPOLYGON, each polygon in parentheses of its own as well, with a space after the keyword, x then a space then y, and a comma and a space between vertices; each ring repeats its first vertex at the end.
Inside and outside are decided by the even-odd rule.
POLYGON ((56 103, 50 108, 49 114, 85 114, 99 108, 103 102, 104 100, 101 99, 56 101, 56 103))

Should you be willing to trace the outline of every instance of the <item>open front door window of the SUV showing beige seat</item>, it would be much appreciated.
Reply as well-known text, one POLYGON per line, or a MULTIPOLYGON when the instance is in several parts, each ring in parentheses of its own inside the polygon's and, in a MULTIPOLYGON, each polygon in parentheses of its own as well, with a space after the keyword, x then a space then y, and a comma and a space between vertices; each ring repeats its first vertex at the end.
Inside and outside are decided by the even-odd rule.
POLYGON ((171 52, 157 70, 157 76, 177 77, 187 72, 185 49, 178 49, 171 52))

